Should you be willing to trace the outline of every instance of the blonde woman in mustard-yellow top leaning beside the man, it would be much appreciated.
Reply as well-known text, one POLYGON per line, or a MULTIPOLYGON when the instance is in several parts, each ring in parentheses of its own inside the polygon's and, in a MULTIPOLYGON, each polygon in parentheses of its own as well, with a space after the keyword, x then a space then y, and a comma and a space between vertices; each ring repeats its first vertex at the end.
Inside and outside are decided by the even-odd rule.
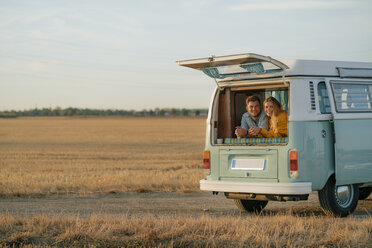
POLYGON ((279 138, 287 137, 288 135, 288 113, 282 110, 282 106, 278 100, 270 96, 264 101, 264 110, 270 118, 269 130, 259 127, 252 127, 249 132, 258 133, 258 137, 279 138))

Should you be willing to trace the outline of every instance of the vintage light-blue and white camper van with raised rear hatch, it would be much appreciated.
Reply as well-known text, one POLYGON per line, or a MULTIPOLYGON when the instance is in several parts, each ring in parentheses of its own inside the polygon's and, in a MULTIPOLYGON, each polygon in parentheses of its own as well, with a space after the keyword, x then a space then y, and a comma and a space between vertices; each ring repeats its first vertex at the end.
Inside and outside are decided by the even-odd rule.
POLYGON ((276 60, 254 53, 177 61, 216 84, 206 127, 200 189, 223 192, 242 211, 317 191, 334 216, 372 190, 372 63, 276 60), (274 97, 287 135, 237 137, 249 96, 274 97))

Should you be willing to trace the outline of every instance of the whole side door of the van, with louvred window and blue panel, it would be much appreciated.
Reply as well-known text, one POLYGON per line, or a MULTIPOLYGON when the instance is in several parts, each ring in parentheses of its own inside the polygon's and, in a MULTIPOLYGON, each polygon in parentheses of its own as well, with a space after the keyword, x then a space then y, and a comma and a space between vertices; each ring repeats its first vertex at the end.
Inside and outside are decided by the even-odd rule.
POLYGON ((327 81, 335 135, 336 184, 372 182, 372 81, 327 81))

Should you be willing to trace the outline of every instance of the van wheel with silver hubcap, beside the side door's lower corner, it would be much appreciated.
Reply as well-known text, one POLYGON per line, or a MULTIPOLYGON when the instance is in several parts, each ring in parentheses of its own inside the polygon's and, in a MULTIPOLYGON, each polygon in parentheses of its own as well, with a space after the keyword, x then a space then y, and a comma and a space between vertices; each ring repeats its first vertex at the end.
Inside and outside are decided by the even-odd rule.
POLYGON ((318 192, 322 208, 336 217, 346 217, 352 213, 358 204, 358 197, 358 185, 336 186, 336 180, 333 176, 324 188, 318 192))

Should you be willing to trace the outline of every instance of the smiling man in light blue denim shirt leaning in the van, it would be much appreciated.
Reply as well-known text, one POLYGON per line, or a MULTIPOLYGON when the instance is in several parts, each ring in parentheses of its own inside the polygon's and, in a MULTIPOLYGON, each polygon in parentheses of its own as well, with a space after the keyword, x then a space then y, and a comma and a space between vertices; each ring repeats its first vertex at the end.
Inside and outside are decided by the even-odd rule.
POLYGON ((258 96, 249 96, 245 100, 248 112, 242 116, 241 126, 235 129, 238 138, 256 137, 258 132, 249 132, 251 127, 269 128, 269 121, 264 111, 261 111, 261 101, 258 96))

